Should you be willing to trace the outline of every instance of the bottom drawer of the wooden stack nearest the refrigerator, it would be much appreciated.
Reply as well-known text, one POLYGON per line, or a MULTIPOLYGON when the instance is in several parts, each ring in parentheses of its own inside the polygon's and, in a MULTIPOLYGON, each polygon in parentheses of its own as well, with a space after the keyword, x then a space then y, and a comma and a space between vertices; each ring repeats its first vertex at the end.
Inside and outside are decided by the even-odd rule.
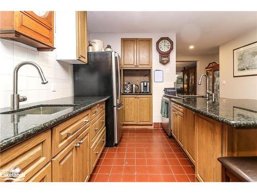
POLYGON ((96 163, 103 151, 105 146, 105 128, 103 128, 99 138, 96 139, 95 144, 90 148, 91 150, 91 171, 93 171, 96 163))

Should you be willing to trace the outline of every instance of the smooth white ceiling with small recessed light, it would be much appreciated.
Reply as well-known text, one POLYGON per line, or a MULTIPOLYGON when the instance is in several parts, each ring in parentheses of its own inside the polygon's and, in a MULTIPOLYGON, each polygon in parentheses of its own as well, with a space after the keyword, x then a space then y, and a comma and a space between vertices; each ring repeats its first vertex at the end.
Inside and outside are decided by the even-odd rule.
POLYGON ((87 17, 89 32, 176 32, 177 55, 216 54, 219 45, 257 27, 257 12, 247 11, 88 11, 87 17))

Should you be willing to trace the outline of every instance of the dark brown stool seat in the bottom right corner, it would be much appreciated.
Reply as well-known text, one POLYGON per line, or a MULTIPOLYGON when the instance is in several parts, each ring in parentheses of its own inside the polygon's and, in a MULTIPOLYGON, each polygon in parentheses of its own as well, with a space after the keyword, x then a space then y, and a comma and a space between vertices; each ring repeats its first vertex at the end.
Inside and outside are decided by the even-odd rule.
POLYGON ((218 161, 242 181, 257 182, 257 156, 218 157, 218 161))

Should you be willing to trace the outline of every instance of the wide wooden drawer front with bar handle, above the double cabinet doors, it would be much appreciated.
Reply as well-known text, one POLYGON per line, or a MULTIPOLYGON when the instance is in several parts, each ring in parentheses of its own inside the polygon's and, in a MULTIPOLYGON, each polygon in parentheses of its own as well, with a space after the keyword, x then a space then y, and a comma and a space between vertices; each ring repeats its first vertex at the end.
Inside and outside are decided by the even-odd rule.
POLYGON ((90 110, 72 117, 56 127, 52 131, 52 157, 72 142, 82 131, 90 125, 90 110))

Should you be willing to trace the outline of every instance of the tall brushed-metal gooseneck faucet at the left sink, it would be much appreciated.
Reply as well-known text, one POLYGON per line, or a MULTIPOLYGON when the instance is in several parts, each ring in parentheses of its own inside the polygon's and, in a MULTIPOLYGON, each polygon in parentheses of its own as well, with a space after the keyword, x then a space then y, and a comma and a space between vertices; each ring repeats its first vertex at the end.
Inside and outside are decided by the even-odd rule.
POLYGON ((17 94, 17 91, 18 91, 18 71, 20 69, 20 67, 26 65, 26 64, 29 64, 29 65, 32 65, 34 66, 38 72, 39 72, 39 76, 42 80, 41 84, 46 84, 48 83, 48 81, 45 79, 45 76, 44 76, 44 73, 42 72, 42 69, 41 67, 34 63, 34 62, 30 62, 30 61, 24 61, 24 62, 20 62, 19 64, 17 64, 15 66, 15 68, 13 69, 13 93, 11 95, 11 109, 19 109, 19 104, 20 102, 23 102, 23 101, 26 101, 27 100, 27 97, 26 96, 20 96, 19 94, 17 94))

